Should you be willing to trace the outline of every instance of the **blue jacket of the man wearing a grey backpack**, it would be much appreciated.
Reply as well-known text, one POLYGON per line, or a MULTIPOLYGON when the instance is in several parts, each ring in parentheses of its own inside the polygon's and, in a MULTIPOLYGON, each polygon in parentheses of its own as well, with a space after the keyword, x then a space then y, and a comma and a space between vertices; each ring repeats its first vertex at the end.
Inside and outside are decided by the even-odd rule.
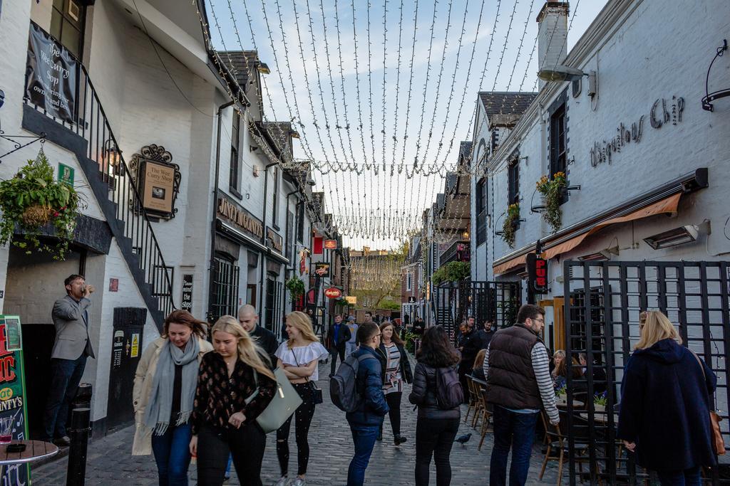
POLYGON ((355 412, 347 412, 347 422, 356 426, 380 426, 383 417, 388 413, 388 404, 383 395, 383 375, 380 359, 375 350, 368 346, 360 346, 353 356, 360 357, 372 354, 375 359, 364 359, 358 366, 356 389, 362 401, 355 412))

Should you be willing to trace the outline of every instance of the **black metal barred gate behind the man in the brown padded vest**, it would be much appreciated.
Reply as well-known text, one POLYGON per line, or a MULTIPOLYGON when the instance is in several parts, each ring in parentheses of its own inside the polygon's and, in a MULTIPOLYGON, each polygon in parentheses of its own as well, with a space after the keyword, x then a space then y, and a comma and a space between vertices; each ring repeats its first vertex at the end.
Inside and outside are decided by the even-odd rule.
POLYGON ((497 328, 511 326, 522 304, 520 282, 461 281, 442 283, 434 289, 436 323, 450 334, 473 317, 477 324, 490 320, 497 328))

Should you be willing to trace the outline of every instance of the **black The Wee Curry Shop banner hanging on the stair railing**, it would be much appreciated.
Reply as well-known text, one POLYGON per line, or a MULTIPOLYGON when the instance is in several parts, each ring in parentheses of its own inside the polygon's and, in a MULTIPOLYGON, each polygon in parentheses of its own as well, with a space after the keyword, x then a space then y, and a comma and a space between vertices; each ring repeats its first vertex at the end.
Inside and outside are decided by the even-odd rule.
POLYGON ((74 56, 31 22, 26 62, 26 98, 48 116, 66 123, 76 120, 79 64, 74 56))

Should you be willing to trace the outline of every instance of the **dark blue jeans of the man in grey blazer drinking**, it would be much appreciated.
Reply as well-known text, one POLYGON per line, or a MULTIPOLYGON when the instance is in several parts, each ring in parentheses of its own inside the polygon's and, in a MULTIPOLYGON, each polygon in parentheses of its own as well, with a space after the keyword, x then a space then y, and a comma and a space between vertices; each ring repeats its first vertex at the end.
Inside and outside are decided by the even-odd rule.
POLYGON ((83 353, 76 359, 50 360, 50 390, 43 414, 45 439, 68 435, 66 420, 69 417, 69 404, 76 396, 85 367, 86 356, 83 353))

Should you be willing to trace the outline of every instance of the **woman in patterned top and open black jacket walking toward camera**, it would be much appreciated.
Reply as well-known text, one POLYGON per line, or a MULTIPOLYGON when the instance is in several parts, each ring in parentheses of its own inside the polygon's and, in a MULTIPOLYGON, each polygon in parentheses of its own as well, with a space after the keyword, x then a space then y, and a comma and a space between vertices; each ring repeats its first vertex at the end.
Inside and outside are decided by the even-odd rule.
MULTIPOLYGON (((393 428, 393 442, 396 445, 403 444, 407 439, 401 436, 401 396, 403 395, 403 382, 413 383, 408 355, 406 354, 403 341, 398 336, 393 322, 385 321, 380 324, 380 348, 381 365, 385 369, 383 379, 383 393, 385 401, 388 402, 388 417, 391 419, 393 428)), ((383 439, 383 428, 380 428, 378 440, 383 439)))

